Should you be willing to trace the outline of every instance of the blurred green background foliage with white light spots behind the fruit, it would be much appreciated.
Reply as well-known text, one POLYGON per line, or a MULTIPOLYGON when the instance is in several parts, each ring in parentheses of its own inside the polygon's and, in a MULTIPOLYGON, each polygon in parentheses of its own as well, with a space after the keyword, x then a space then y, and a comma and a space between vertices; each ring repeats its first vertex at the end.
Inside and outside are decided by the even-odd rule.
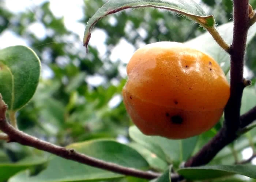
MULTIPOLYGON (((84 16, 80 23, 86 24, 105 2, 106 0, 84 0, 84 16)), ((256 7, 256 0, 251 0, 250 3, 252 7, 256 7)), ((215 16, 218 25, 232 20, 231 0, 202 0, 202 6, 209 14, 215 16)), ((89 44, 89 54, 86 54, 79 35, 65 27, 63 17, 57 18, 53 15, 49 2, 23 12, 12 13, 5 8, 4 1, 0 1, 0 36, 5 31, 11 31, 25 39, 42 63, 42 77, 36 93, 29 104, 17 113, 18 126, 28 134, 61 146, 102 138, 132 141, 129 137, 132 122, 121 100, 121 91, 126 79, 123 73, 126 63, 121 59, 111 60, 113 49, 119 46, 121 41, 127 41, 136 50, 144 44, 156 41, 184 42, 204 32, 203 28, 192 21, 167 11, 153 8, 126 10, 107 16, 95 25, 93 32, 100 31, 106 35, 105 40, 98 40, 99 43, 105 44, 106 51, 97 50, 89 44), (44 38, 39 39, 27 28, 34 23, 39 23, 46 29, 44 38), (50 76, 45 77, 49 73, 50 76), (97 78, 103 81, 97 84, 97 78)), ((246 65, 251 73, 249 77, 253 80, 253 85, 253 73, 256 73, 255 46, 256 37, 246 52, 246 65)), ((126 51, 125 47, 122 51, 126 51)), ((250 93, 255 92, 254 86, 250 89, 250 93)), ((212 130, 200 135, 193 153, 208 142, 220 128, 221 122, 212 130)), ((239 159, 243 149, 256 144, 256 138, 253 137, 255 131, 251 131, 251 138, 248 139, 248 135, 245 135, 235 143, 234 148, 239 159)), ((145 157, 149 164, 153 163, 153 170, 165 171, 167 163, 172 163, 171 160, 164 161, 163 158, 153 159, 154 153, 145 146, 137 143, 130 143, 130 146, 145 157)), ((227 146, 215 157, 212 164, 233 164, 232 154, 230 146, 227 146)), ((30 174, 39 173, 46 167, 46 162, 42 159, 52 157, 30 147, 0 141, 0 167, 1 163, 4 166, 30 156, 41 158, 37 160, 39 162, 35 161, 29 165, 32 169, 30 174)), ((177 166, 176 164, 174 167, 177 166)), ((23 169, 27 169, 27 166, 19 164, 13 174, 23 169)), ((28 175, 29 171, 22 171, 11 181, 19 181, 19 176, 20 179, 27 179, 28 175)), ((112 181, 147 180, 129 177, 112 181)))

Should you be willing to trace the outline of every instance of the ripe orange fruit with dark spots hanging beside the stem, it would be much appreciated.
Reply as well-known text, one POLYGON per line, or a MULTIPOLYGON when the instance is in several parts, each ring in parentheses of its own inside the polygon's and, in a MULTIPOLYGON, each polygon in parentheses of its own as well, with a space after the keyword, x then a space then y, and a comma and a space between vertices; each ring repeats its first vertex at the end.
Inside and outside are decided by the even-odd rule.
POLYGON ((158 42, 138 49, 127 65, 123 101, 146 135, 183 139, 212 128, 230 96, 215 60, 182 43, 158 42))

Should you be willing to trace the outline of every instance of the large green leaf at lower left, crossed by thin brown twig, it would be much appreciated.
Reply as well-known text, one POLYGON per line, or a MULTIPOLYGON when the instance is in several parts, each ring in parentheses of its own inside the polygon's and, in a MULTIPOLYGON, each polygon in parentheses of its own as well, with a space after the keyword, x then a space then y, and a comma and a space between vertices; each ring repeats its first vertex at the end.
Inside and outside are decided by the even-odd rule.
MULTIPOLYGON (((67 146, 67 148, 72 148, 91 157, 125 167, 137 169, 148 169, 149 167, 147 161, 137 151, 113 140, 93 140, 74 143, 67 146)), ((124 177, 124 175, 54 156, 46 170, 38 175, 29 176, 28 171, 23 171, 12 177, 9 182, 102 181, 121 177, 124 177)))

